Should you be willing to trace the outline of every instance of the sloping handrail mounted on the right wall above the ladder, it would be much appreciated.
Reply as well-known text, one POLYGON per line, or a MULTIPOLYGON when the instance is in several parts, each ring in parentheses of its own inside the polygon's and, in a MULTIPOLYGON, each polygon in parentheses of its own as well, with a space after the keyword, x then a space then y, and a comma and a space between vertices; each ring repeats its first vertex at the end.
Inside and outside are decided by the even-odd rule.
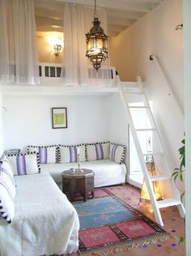
POLYGON ((150 56, 150 60, 155 62, 155 66, 157 67, 157 69, 159 70, 159 74, 161 75, 162 79, 163 79, 163 82, 167 85, 168 87, 168 95, 169 96, 173 96, 173 99, 175 100, 176 102, 176 105, 178 106, 179 110, 180 110, 180 113, 182 114, 182 117, 185 116, 185 113, 184 113, 184 109, 182 107, 182 105, 180 104, 180 100, 177 98, 176 96, 176 93, 174 92, 172 86, 170 85, 170 83, 168 82, 168 78, 167 78, 167 75, 165 75, 164 71, 163 71, 163 68, 162 66, 160 65, 159 63, 159 60, 158 58, 155 56, 155 55, 151 55, 150 56))

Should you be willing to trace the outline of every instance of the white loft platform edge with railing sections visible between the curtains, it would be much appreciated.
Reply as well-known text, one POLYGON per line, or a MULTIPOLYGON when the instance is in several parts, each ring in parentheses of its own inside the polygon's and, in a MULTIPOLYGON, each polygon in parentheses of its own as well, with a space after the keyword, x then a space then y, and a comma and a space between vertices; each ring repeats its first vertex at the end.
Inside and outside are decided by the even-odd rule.
MULTIPOLYGON (((92 67, 88 68, 89 85, 84 87, 65 86, 62 84, 62 74, 65 68, 59 63, 40 63, 39 76, 40 84, 6 84, 0 83, 2 95, 44 95, 44 96, 72 96, 90 95, 105 96, 118 93, 116 69, 101 69, 96 72, 92 67), (108 79, 109 77, 109 79, 108 79), (101 84, 104 84, 102 86, 101 84)), ((134 86, 136 82, 122 82, 128 86, 134 86)))

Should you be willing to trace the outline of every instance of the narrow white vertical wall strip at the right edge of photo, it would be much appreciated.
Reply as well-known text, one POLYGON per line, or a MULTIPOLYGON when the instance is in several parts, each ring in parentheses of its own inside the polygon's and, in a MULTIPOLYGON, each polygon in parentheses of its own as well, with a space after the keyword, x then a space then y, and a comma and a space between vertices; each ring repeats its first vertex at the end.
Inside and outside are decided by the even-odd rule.
POLYGON ((191 255, 191 2, 184 0, 184 34, 185 34, 185 238, 186 238, 186 255, 191 255))

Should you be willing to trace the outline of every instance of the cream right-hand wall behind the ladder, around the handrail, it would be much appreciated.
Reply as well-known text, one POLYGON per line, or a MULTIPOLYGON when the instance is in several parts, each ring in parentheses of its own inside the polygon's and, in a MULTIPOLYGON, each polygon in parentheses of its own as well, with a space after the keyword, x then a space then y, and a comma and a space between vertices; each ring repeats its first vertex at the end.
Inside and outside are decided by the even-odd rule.
POLYGON ((184 136, 184 117, 161 79, 151 54, 159 58, 168 80, 184 105, 183 87, 183 31, 176 31, 182 23, 182 1, 166 0, 139 19, 125 32, 111 41, 112 66, 122 80, 135 80, 141 75, 146 81, 149 100, 153 102, 155 119, 169 152, 172 169, 179 165, 178 148, 184 136))

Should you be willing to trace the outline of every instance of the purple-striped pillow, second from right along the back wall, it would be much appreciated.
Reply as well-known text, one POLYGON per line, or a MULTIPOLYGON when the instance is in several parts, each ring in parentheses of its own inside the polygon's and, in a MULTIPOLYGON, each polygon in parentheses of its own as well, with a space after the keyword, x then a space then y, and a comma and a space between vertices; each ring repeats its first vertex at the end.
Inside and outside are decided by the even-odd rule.
POLYGON ((109 142, 87 144, 87 161, 108 159, 109 142))

